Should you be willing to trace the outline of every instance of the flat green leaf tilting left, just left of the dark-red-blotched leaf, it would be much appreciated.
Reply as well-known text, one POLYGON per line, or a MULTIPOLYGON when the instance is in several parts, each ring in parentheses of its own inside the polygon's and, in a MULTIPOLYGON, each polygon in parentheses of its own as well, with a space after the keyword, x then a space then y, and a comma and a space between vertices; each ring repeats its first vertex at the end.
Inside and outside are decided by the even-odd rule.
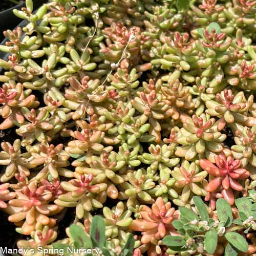
POLYGON ((86 232, 76 224, 72 224, 69 228, 74 245, 76 248, 92 248, 93 244, 91 239, 87 236, 86 232))

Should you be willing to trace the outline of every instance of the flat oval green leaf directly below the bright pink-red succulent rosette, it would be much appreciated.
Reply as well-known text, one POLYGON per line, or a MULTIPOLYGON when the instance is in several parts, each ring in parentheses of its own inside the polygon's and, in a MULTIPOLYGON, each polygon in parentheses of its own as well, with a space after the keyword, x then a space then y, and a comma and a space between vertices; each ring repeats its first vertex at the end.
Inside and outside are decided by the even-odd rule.
POLYGON ((216 208, 219 220, 225 222, 225 227, 229 227, 233 221, 233 215, 229 203, 224 198, 220 198, 217 200, 216 208))

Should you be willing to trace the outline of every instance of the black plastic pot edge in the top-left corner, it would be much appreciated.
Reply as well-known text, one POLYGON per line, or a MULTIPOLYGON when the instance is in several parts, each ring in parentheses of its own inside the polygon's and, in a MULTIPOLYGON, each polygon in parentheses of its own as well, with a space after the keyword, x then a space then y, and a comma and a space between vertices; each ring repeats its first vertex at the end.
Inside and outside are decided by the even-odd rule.
MULTIPOLYGON (((34 0, 34 10, 45 2, 44 0, 34 0)), ((12 30, 20 23, 20 18, 16 17, 12 11, 14 9, 20 10, 22 7, 25 7, 25 2, 0 12, 0 41, 4 39, 3 31, 7 29, 12 30)))

